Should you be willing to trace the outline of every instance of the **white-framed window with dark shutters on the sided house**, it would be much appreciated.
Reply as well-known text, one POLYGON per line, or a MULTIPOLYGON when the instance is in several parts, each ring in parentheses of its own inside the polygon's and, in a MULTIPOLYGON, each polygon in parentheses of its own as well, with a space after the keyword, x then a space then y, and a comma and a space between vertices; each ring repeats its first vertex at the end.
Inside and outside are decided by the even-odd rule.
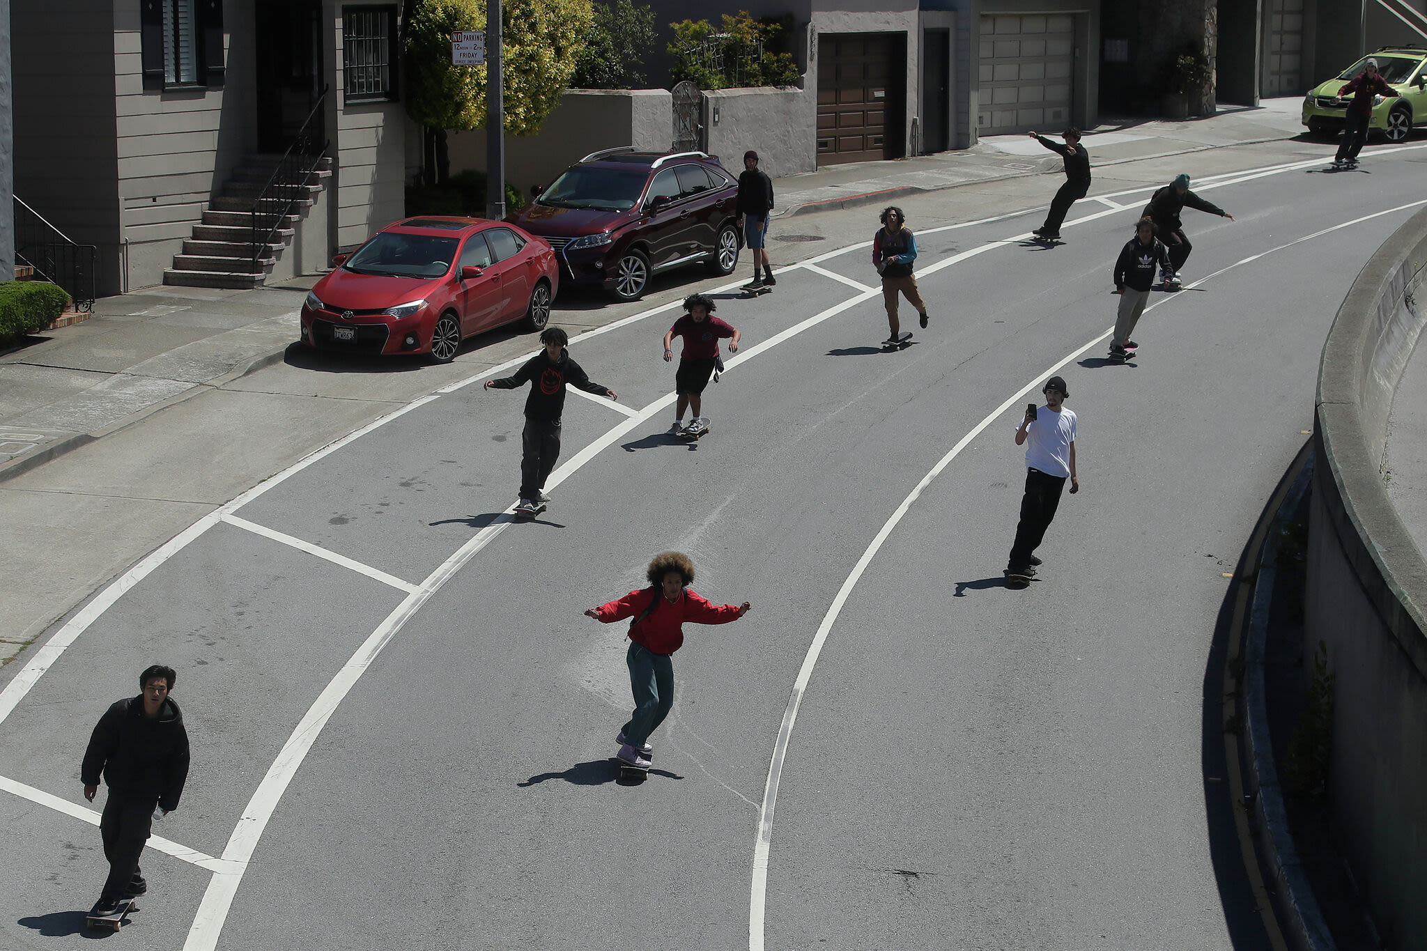
POLYGON ((223 0, 141 0, 144 88, 221 87, 223 0))

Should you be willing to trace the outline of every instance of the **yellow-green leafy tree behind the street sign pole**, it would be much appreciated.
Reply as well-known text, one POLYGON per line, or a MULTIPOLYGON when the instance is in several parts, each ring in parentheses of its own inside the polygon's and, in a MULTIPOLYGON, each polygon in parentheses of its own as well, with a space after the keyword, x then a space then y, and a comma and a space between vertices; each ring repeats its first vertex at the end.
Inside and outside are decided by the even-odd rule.
MULTIPOLYGON (((505 131, 539 130, 569 86, 594 21, 591 0, 502 0, 505 131)), ((485 30, 485 0, 414 0, 405 23, 407 114, 437 130, 438 181, 450 174, 445 131, 485 128, 484 66, 452 66, 451 34, 485 30)))

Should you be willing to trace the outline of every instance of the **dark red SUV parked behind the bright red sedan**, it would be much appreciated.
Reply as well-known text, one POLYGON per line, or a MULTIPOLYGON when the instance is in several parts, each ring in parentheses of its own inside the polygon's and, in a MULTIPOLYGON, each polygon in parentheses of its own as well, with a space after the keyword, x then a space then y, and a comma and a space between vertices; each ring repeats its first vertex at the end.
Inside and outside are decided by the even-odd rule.
POLYGON ((738 180, 705 153, 585 155, 511 218, 555 248, 562 281, 608 288, 618 299, 644 294, 649 277, 704 262, 732 274, 738 180))

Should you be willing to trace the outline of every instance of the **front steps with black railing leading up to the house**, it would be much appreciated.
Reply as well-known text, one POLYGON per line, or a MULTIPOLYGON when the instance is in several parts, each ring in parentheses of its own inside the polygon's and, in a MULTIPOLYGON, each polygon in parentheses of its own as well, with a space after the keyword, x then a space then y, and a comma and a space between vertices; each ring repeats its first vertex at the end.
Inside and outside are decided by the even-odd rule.
MULTIPOLYGON (((281 155, 251 155, 233 170, 223 192, 208 201, 200 224, 193 227, 193 238, 183 242, 183 254, 174 255, 174 265, 164 269, 164 284, 181 287, 254 288, 267 279, 273 265, 291 244, 298 222, 332 175, 332 160, 324 155, 317 170, 303 187, 303 195, 293 202, 290 214, 278 221, 270 244, 254 261, 253 201, 258 197, 281 155)), ((275 217, 263 224, 271 227, 275 217)))

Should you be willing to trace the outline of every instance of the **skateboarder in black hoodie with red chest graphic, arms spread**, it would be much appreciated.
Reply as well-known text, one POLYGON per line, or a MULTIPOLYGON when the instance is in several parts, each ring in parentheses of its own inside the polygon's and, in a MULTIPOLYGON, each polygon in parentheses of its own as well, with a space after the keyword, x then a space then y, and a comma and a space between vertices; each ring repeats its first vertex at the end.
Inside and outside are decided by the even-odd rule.
POLYGON ((531 384, 525 398, 525 431, 521 433, 521 498, 515 513, 534 518, 549 505, 545 495, 545 479, 559 461, 559 418, 565 412, 565 384, 572 384, 586 394, 598 394, 608 399, 619 399, 615 391, 589 382, 589 375, 569 356, 565 346, 569 335, 558 327, 548 327, 539 335, 545 345, 525 365, 505 379, 485 381, 487 389, 515 389, 531 384))

